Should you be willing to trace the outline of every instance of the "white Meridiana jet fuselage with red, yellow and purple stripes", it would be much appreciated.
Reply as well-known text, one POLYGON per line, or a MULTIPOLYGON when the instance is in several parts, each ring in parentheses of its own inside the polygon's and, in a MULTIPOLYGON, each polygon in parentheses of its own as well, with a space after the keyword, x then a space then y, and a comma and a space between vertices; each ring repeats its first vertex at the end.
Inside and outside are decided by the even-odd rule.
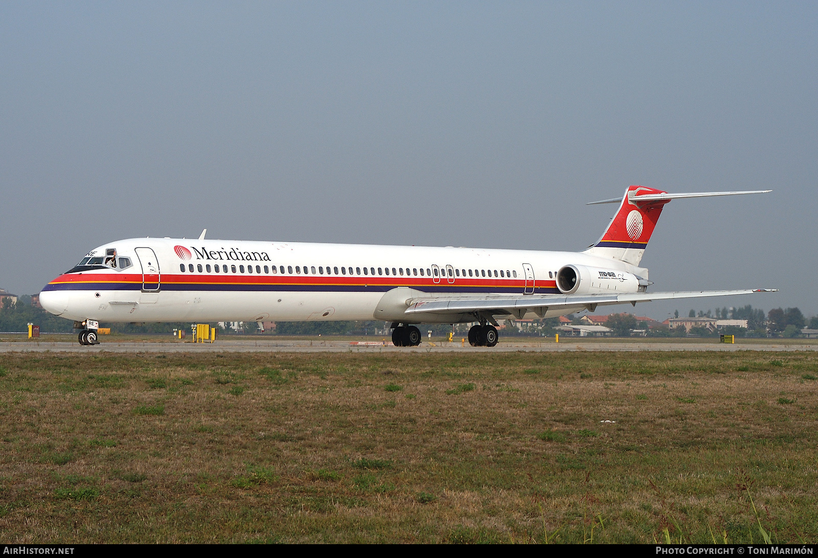
POLYGON ((399 312, 376 313, 396 289, 429 296, 559 294, 556 272, 569 264, 611 270, 612 280, 601 281, 598 292, 631 290, 622 273, 647 279, 644 268, 585 253, 258 241, 129 239, 102 245, 83 262, 91 264, 43 289, 43 308, 100 322, 400 321, 399 312))

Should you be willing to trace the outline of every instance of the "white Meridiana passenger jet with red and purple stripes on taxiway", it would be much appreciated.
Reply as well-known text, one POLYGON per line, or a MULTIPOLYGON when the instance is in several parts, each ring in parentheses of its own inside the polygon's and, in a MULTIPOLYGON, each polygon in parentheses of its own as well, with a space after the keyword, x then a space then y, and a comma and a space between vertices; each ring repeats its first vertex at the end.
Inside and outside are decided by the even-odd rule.
POLYGON ((598 306, 771 292, 656 292, 639 264, 671 200, 762 191, 672 194, 631 186, 600 240, 582 252, 132 238, 101 245, 40 293, 74 320, 80 344, 99 322, 391 322, 398 347, 415 324, 476 322, 473 346, 497 344, 497 320, 546 318, 598 306))

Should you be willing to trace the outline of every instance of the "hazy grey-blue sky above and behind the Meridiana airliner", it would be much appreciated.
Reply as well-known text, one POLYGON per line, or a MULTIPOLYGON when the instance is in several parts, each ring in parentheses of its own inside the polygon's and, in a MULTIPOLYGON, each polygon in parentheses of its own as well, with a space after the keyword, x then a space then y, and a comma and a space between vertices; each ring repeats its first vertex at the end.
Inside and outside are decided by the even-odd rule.
MULTIPOLYGON (((0 286, 133 236, 582 250, 818 313, 815 2, 5 2, 0 286)), ((636 312, 663 319, 676 304, 636 312)), ((622 307, 630 309, 630 307, 622 307)))

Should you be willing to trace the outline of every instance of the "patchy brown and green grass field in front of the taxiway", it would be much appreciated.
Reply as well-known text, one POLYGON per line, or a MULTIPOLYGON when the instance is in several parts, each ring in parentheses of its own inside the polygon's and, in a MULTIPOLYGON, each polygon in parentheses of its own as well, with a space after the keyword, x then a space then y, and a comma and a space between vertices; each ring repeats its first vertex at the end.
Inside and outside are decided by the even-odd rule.
POLYGON ((815 352, 0 362, 4 542, 818 541, 815 352))

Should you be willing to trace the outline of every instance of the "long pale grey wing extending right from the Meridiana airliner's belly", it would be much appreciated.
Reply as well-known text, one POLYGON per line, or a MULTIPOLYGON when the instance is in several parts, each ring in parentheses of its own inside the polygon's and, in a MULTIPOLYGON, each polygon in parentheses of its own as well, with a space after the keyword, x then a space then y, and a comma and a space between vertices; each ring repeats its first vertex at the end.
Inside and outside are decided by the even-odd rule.
POLYGON ((618 295, 489 295, 482 297, 457 296, 420 297, 411 299, 407 314, 416 313, 485 313, 511 314, 523 317, 528 312, 544 316, 548 310, 586 307, 593 312, 597 306, 609 304, 650 302, 651 300, 694 299, 706 296, 749 295, 775 292, 777 289, 689 290, 668 293, 622 293, 618 295))

